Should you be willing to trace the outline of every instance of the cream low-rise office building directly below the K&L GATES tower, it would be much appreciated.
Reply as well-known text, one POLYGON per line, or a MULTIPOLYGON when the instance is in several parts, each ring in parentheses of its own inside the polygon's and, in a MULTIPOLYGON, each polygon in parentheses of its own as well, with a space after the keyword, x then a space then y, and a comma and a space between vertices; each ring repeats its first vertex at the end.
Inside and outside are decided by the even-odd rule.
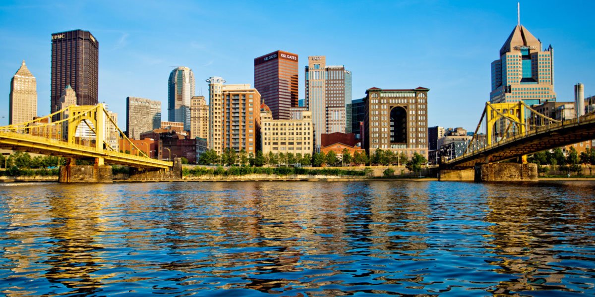
POLYGON ((261 106, 262 153, 312 154, 314 130, 312 112, 303 111, 301 119, 273 119, 271 110, 261 106))

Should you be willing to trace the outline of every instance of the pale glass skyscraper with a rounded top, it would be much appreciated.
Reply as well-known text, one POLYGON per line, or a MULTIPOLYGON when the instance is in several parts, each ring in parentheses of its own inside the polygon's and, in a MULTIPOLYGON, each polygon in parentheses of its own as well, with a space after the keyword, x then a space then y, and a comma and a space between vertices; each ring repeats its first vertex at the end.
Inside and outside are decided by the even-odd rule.
POLYGON ((173 69, 168 80, 167 120, 183 122, 184 130, 190 131, 190 99, 194 96, 195 81, 192 69, 173 69))

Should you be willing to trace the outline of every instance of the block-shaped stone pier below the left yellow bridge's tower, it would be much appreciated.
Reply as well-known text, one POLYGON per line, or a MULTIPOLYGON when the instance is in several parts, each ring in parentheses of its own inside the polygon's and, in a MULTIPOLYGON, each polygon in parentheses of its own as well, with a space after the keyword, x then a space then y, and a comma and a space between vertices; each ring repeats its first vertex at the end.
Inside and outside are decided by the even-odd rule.
POLYGON ((112 167, 108 165, 66 165, 60 166, 58 181, 75 182, 112 182, 112 167))

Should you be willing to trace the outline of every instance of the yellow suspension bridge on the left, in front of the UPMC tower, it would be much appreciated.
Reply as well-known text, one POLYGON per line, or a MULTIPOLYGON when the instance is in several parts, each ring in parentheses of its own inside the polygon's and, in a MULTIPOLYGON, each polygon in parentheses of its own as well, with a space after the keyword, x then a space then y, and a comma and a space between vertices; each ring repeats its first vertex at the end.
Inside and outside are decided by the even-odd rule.
POLYGON ((33 121, 0 127, 0 147, 73 159, 94 159, 95 165, 168 169, 173 162, 148 157, 109 116, 105 105, 71 105, 33 121), (121 140, 136 154, 118 149, 121 140), (128 145, 129 144, 129 145, 128 145))

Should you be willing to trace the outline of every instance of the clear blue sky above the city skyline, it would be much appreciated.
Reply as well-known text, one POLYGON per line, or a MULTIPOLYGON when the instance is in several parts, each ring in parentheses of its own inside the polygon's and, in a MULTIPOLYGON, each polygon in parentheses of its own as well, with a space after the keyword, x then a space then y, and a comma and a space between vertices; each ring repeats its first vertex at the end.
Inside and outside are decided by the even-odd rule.
MULTIPOLYGON (((555 49, 558 101, 575 83, 595 95, 595 1, 521 1, 521 23, 555 49)), ((162 102, 177 66, 205 79, 253 84, 253 59, 281 49, 353 73, 353 99, 370 87, 430 89, 428 125, 474 129, 489 99, 490 63, 516 25, 516 1, 2 1, 0 125, 10 80, 26 60, 37 113, 49 114, 51 34, 89 30, 99 41, 99 101, 126 127, 126 97, 162 102)))

